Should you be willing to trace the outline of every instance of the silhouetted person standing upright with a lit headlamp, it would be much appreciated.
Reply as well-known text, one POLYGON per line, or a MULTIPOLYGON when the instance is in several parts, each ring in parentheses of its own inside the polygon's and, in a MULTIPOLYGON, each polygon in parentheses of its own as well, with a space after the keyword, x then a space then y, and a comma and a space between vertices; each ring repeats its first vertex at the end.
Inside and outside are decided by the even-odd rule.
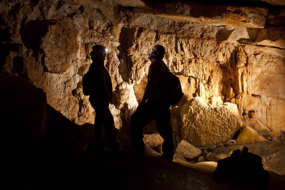
POLYGON ((94 80, 94 87, 89 101, 95 110, 95 147, 102 151, 104 143, 101 140, 100 128, 103 125, 106 140, 112 151, 120 151, 120 142, 116 138, 114 118, 110 112, 109 104, 112 103, 113 87, 111 77, 104 66, 107 55, 106 47, 95 45, 90 52, 92 63, 89 67, 90 76, 94 80))

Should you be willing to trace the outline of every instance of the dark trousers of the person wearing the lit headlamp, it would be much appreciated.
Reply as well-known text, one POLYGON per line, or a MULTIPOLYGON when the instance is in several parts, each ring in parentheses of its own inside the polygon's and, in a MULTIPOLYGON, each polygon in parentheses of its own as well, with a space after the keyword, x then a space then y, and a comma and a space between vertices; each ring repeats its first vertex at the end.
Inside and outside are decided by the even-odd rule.
POLYGON ((95 126, 94 126, 94 137, 95 144, 97 146, 104 146, 104 143, 101 140, 101 130, 103 126, 106 140, 111 148, 115 148, 120 143, 117 140, 117 133, 115 131, 115 122, 112 113, 110 112, 108 104, 96 104, 91 102, 92 107, 95 110, 95 126))

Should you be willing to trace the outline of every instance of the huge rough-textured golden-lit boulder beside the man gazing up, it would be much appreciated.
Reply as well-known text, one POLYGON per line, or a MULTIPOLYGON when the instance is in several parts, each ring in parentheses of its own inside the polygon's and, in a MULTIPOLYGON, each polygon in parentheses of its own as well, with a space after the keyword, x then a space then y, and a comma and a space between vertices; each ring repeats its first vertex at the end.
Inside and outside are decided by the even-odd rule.
POLYGON ((242 121, 235 104, 210 105, 195 97, 181 109, 182 138, 193 146, 208 146, 232 139, 242 121))

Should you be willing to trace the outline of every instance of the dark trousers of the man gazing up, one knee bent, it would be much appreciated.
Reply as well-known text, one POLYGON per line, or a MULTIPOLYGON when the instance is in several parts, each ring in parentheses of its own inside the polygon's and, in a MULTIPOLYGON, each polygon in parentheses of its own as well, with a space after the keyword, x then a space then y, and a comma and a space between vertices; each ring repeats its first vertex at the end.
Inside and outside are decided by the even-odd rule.
POLYGON ((160 107, 154 101, 147 101, 131 116, 131 143, 134 149, 144 150, 143 128, 154 119, 159 135, 163 138, 162 152, 166 157, 174 155, 172 126, 169 107, 160 107))

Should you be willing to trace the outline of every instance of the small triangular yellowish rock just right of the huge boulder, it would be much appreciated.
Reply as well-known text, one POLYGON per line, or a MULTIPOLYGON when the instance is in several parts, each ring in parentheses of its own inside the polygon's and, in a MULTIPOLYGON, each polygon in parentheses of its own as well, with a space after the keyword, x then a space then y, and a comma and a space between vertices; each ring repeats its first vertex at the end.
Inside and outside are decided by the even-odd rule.
POLYGON ((264 139, 257 131, 246 125, 242 126, 242 130, 236 139, 236 142, 241 143, 256 143, 260 141, 266 141, 266 139, 264 139))

